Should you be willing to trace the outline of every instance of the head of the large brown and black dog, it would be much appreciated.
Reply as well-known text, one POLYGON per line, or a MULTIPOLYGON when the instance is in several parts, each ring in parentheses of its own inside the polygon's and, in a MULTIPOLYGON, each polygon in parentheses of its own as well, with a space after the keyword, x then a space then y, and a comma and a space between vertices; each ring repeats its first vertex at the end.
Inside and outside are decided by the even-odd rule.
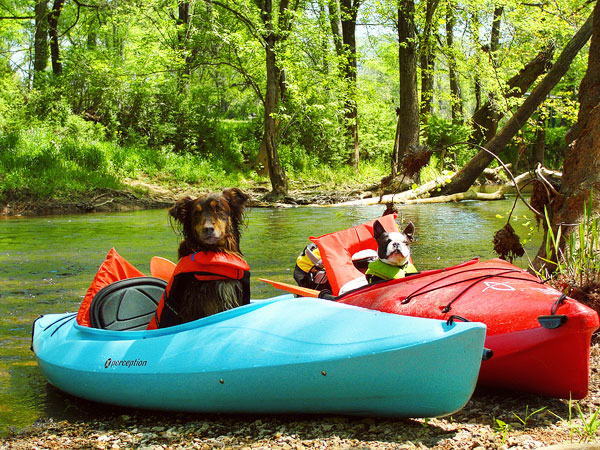
POLYGON ((249 196, 237 188, 178 200, 169 214, 181 224, 179 257, 195 251, 240 252, 240 224, 249 196))

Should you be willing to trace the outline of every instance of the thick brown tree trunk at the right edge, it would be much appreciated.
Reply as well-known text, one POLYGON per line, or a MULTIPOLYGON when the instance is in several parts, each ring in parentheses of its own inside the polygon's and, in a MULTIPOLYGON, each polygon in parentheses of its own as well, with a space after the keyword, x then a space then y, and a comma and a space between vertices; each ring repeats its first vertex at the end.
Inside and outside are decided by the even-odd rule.
MULTIPOLYGON (((593 193, 592 208, 600 209, 600 3, 593 12, 593 35, 590 44, 587 72, 579 88, 579 116, 567 134, 567 151, 560 196, 552 204, 551 222, 555 232, 559 226, 563 237, 577 229, 583 218, 583 206, 593 193)), ((589 20, 588 20, 589 22, 589 20)), ((586 22, 587 23, 587 22, 586 22)), ((540 268, 540 258, 556 261, 556 255, 546 255, 544 240, 534 266, 540 268)), ((564 239, 562 240, 564 246, 564 239)))

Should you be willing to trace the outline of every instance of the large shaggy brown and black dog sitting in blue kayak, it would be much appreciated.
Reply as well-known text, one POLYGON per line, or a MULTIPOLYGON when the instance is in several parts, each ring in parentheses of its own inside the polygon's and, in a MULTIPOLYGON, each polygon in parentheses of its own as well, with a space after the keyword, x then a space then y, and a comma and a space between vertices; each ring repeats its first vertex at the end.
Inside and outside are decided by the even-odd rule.
POLYGON ((222 276, 218 268, 206 266, 216 260, 233 264, 234 269, 235 264, 246 265, 241 259, 240 228, 248 200, 249 196, 240 189, 231 188, 198 198, 180 199, 169 209, 169 215, 175 222, 174 228, 178 228, 183 236, 178 250, 179 264, 185 260, 189 263, 191 256, 205 266, 201 271, 191 266, 192 269, 174 277, 160 320, 161 328, 250 302, 249 271, 240 269, 239 273, 243 276, 237 278, 222 276), (206 259, 207 255, 212 256, 206 259), (219 275, 215 277, 215 273, 219 275))

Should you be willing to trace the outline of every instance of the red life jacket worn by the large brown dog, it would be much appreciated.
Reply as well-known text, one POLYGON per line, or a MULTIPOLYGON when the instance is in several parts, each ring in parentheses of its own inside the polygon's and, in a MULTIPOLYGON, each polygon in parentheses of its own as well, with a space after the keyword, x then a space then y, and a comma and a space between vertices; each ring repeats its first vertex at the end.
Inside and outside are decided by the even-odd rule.
MULTIPOLYGON (((170 297, 171 290, 176 290, 176 286, 181 282, 185 282, 184 279, 189 275, 193 275, 198 280, 241 280, 242 304, 250 303, 250 266, 246 261, 239 256, 223 252, 192 253, 181 258, 177 263, 165 293, 158 303, 156 314, 154 314, 148 325, 148 330, 160 328, 165 303, 172 301, 172 297, 170 297)), ((171 322, 170 320, 168 326, 177 325, 177 323, 171 322)), ((162 325, 165 326, 166 324, 163 323, 162 325)))

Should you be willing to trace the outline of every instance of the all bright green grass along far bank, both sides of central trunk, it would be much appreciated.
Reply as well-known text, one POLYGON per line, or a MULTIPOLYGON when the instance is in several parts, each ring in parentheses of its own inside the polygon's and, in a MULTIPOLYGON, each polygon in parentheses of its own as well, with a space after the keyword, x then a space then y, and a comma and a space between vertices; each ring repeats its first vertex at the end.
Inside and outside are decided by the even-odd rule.
MULTIPOLYGON (((74 118, 60 128, 32 126, 0 134, 0 200, 65 199, 97 189, 123 189, 125 180, 142 178, 203 190, 270 186, 243 159, 241 154, 178 154, 120 145, 117 139, 107 140, 101 127, 74 118)), ((365 185, 385 175, 382 164, 361 164, 357 175, 346 165, 319 164, 316 158, 299 158, 285 148, 281 160, 292 188, 365 185)))

